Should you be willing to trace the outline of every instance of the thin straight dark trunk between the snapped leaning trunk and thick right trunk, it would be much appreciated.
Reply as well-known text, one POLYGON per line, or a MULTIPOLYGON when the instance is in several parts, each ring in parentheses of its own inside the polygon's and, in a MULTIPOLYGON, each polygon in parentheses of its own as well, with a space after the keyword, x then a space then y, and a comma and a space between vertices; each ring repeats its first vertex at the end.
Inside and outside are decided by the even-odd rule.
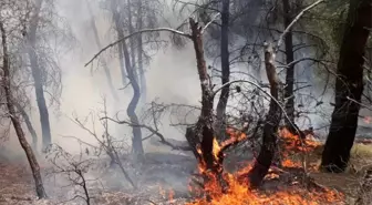
MULTIPOLYGON (((285 28, 287 28, 292 21, 292 12, 290 8, 289 0, 283 0, 283 11, 285 11, 285 28)), ((293 54, 293 35, 291 30, 286 34, 285 39, 286 44, 286 61, 287 64, 290 64, 294 61, 293 54)), ((286 125, 291 129, 291 124, 294 123, 294 65, 291 64, 287 68, 286 72, 286 89, 285 89, 285 99, 286 99, 286 112, 288 119, 286 119, 286 125)), ((296 132, 292 132, 296 133, 296 132)))

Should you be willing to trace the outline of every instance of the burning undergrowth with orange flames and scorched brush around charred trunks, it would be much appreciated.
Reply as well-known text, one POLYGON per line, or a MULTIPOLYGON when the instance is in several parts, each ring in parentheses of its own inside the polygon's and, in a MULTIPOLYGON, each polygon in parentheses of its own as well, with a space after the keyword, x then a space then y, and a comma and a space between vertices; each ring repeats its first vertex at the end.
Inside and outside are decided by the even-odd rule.
MULTIPOLYGON (((215 163, 223 161, 224 150, 231 144, 246 139, 246 134, 228 131, 230 139, 218 143, 214 140, 213 155, 215 163)), ((300 139, 291 134, 287 129, 278 132, 282 152, 279 166, 271 166, 265 177, 265 185, 258 189, 250 185, 249 174, 254 163, 231 174, 223 171, 223 166, 215 164, 215 170, 208 170, 204 161, 199 161, 198 170, 203 183, 189 187, 198 199, 188 205, 302 205, 302 204, 342 204, 343 195, 316 184, 303 173, 289 173, 287 168, 301 170, 301 162, 294 162, 289 156, 293 154, 307 154, 312 152, 319 142, 309 139, 300 139)), ((198 148, 202 155, 202 150, 198 148)), ((195 182, 195 180, 193 180, 195 182)))

